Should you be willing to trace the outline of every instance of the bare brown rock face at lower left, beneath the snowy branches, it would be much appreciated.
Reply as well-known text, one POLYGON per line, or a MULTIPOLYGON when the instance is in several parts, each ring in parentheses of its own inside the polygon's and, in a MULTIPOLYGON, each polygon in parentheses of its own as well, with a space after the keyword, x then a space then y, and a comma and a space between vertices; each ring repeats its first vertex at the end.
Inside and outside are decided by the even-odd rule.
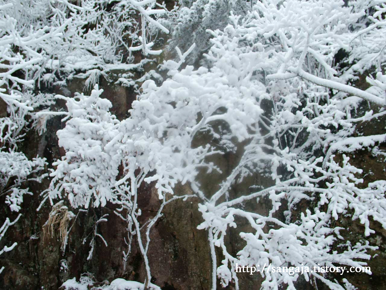
MULTIPOLYGON (((140 222, 143 222, 154 215, 159 200, 152 186, 141 190, 139 203, 144 206, 140 222)), ((31 205, 36 204, 33 198, 30 202, 31 205)), ((164 208, 164 216, 152 229, 148 253, 154 277, 152 282, 163 289, 210 288, 211 262, 205 242, 207 234, 196 229, 200 223, 196 209, 197 200, 193 199, 190 203, 170 203, 164 208)), ((1 277, 3 281, 0 282, 4 285, 3 289, 41 289, 41 286, 44 289, 58 289, 65 280, 73 277, 79 279, 83 273, 90 273, 101 282, 117 277, 144 281, 144 264, 135 241, 126 271, 123 271, 122 252, 127 250, 124 242, 126 225, 115 215, 112 205, 80 212, 69 232, 64 253, 57 236, 49 239, 43 237, 41 227, 49 211, 50 206, 47 205, 39 213, 25 213, 23 222, 10 235, 10 239, 19 244, 2 259, 2 265, 6 267, 5 275, 1 277), (105 214, 108 214, 108 222, 98 225, 98 234, 105 238, 108 246, 97 238, 92 258, 87 260, 95 220, 105 214)))

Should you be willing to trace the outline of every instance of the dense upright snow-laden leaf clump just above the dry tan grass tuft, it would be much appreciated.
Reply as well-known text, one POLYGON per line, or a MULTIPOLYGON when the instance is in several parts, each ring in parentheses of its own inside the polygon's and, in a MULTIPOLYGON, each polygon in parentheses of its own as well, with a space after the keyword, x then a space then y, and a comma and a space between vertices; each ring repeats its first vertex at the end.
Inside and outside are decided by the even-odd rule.
POLYGON ((53 163, 57 169, 51 174, 51 195, 61 197, 64 191, 74 207, 87 208, 91 198, 94 206, 105 206, 112 198, 110 188, 118 175, 119 149, 113 143, 119 135, 119 121, 109 112, 111 102, 99 97, 102 92, 95 85, 90 96, 63 97, 69 120, 58 131, 58 138, 66 155, 53 163))

